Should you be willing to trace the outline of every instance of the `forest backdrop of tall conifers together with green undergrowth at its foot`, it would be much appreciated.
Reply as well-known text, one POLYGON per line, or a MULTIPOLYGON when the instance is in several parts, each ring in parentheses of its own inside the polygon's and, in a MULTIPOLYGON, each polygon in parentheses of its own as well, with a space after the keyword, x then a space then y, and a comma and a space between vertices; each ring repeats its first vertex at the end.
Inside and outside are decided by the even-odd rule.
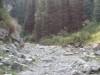
POLYGON ((51 45, 79 41, 93 44, 100 40, 100 0, 0 0, 0 3, 0 10, 3 3, 13 7, 10 15, 22 26, 25 41, 51 45))

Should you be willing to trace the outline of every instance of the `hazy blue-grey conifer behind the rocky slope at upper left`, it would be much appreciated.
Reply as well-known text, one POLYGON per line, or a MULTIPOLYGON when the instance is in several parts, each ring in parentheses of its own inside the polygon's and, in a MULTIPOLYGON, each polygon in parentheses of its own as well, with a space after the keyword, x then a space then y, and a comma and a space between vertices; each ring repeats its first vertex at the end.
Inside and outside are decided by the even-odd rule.
POLYGON ((23 24, 25 16, 25 0, 14 0, 11 15, 14 18, 17 18, 20 24, 23 24))

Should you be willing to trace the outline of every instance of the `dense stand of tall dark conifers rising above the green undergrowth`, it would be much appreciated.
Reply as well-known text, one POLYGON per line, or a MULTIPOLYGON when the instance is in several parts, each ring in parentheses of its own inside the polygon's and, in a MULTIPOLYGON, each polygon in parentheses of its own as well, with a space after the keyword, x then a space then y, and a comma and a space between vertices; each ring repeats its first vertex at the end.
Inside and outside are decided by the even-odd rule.
POLYGON ((79 31, 84 21, 100 22, 100 0, 14 0, 11 15, 38 40, 61 30, 79 31))

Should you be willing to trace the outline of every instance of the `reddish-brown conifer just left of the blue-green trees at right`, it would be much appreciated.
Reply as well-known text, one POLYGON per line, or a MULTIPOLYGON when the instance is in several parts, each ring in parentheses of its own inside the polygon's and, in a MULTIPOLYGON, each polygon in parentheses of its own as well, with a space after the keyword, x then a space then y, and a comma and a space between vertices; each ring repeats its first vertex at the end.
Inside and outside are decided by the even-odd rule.
POLYGON ((69 0, 70 2, 70 21, 68 25, 69 31, 78 31, 82 28, 83 16, 83 0, 69 0))

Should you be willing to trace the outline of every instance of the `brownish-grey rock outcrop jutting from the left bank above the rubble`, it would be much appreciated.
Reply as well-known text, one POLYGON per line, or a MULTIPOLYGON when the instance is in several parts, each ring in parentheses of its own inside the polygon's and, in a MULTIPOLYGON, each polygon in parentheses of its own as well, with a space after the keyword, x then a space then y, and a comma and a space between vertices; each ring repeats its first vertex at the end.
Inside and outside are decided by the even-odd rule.
MULTIPOLYGON (((4 21, 0 21, 0 39, 6 40, 7 38, 12 39, 12 42, 18 42, 20 47, 24 46, 24 41, 21 38, 21 26, 13 20, 12 25, 8 25, 4 21)), ((8 41, 9 41, 8 39, 8 41)))

